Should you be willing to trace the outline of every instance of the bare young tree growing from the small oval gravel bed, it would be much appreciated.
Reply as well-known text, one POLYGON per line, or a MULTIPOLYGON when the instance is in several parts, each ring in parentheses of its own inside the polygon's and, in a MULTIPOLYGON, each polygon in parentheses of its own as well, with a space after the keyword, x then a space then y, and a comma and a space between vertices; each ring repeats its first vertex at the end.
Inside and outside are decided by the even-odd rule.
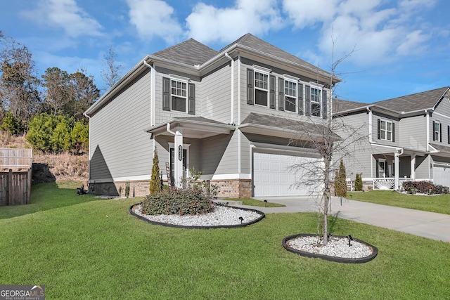
MULTIPOLYGON (((305 111, 308 121, 297 122, 298 133, 293 141, 291 141, 292 145, 294 143, 297 145, 301 143, 304 148, 313 150, 310 152, 310 155, 315 157, 315 159, 300 160, 290 167, 290 171, 295 171, 299 178, 295 183, 295 187, 307 187, 311 195, 320 195, 317 226, 320 237, 319 242, 323 245, 328 243, 328 216, 330 214, 331 204, 330 181, 332 181, 335 171, 339 169, 340 159, 351 156, 354 150, 358 148, 358 145, 364 141, 365 137, 361 134, 360 130, 363 125, 357 127, 349 126, 343 122, 342 118, 337 119, 333 115, 334 91, 336 84, 340 81, 336 70, 338 65, 351 56, 355 49, 353 48, 352 51, 342 58, 334 60, 335 39, 332 38, 332 41, 332 65, 330 67, 330 74, 326 76, 329 77, 329 81, 328 83, 321 82, 325 88, 330 89, 329 96, 326 94, 320 95, 320 97, 326 100, 326 111, 322 110, 323 118, 319 119, 317 117, 311 117, 311 115, 320 116, 320 112, 314 112, 314 108, 311 110, 309 107, 305 107, 307 110, 310 110, 309 112, 307 110, 305 111)), ((321 78, 323 79, 324 77, 321 78)), ((322 92, 325 93, 326 91, 322 92)), ((321 100, 323 99, 321 98, 321 100)))

